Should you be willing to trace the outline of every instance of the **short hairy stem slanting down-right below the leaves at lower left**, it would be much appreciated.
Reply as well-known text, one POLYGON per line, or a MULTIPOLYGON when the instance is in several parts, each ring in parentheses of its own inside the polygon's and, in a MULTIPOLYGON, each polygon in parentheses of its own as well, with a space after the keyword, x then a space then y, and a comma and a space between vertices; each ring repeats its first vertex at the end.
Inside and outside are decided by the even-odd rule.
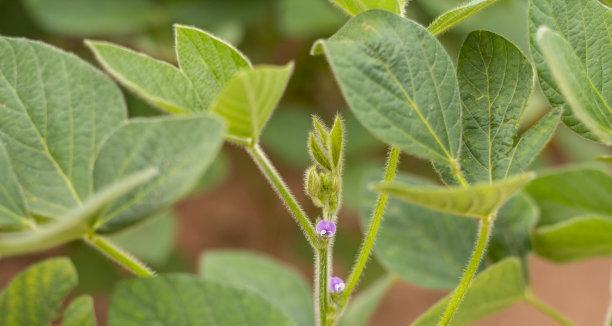
POLYGON ((132 274, 139 277, 155 276, 155 271, 150 269, 147 265, 139 261, 133 255, 119 248, 107 238, 95 233, 91 233, 83 237, 83 239, 93 248, 103 253, 106 257, 108 257, 115 263, 121 265, 126 270, 132 272, 132 274))

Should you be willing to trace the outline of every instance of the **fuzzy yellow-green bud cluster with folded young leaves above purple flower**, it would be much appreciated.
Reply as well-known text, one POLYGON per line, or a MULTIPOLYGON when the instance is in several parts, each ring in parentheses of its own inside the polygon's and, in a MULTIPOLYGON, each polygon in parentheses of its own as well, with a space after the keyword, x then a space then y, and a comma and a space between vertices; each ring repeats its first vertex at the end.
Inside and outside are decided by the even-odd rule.
POLYGON ((313 165, 306 170, 306 194, 324 212, 335 214, 342 198, 342 165, 344 156, 344 123, 336 116, 328 129, 316 116, 308 136, 308 152, 313 165))

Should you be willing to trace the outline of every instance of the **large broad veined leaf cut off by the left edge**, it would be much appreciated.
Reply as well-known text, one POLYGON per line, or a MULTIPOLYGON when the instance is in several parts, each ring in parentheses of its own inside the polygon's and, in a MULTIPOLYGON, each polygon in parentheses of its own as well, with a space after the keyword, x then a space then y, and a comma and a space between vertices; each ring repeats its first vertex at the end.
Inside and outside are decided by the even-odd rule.
POLYGON ((121 91, 91 65, 0 37, 0 139, 32 214, 58 216, 92 195, 95 155, 125 118, 121 91))

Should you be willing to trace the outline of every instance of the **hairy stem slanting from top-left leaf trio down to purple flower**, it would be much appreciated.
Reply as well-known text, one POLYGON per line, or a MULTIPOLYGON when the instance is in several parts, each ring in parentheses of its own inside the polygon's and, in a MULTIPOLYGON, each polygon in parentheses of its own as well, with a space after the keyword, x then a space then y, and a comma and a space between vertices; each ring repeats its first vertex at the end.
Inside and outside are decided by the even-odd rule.
POLYGON ((293 194, 291 194, 289 187, 287 187, 278 171, 276 171, 276 168, 274 168, 274 165, 272 165, 272 162, 270 162, 259 144, 255 144, 253 147, 245 147, 245 149, 253 161, 255 161, 261 173, 268 179, 268 182, 270 182, 278 197, 285 203, 285 206, 287 206, 287 209, 302 229, 302 232, 304 232, 308 243, 316 250, 317 237, 315 229, 300 204, 295 197, 293 197, 293 194))

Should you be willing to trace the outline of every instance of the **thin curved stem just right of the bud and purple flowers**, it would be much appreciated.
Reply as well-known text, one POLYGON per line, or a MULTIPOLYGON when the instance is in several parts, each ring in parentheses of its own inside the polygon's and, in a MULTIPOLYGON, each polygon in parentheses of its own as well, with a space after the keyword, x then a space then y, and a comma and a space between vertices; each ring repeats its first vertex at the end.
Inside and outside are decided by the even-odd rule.
MULTIPOLYGON (((387 166, 385 168, 385 182, 393 181, 395 178, 395 174, 397 172, 397 166, 399 165, 399 157, 400 157, 400 149, 397 146, 391 146, 389 148, 389 155, 387 157, 387 166)), ((385 214, 385 209, 387 208, 387 202, 389 200, 389 195, 386 193, 380 193, 376 200, 376 205, 374 206, 374 212, 372 213, 372 218, 370 219, 370 224, 368 226, 368 231, 363 238, 363 242, 361 245, 361 250, 357 256, 357 260, 353 264, 353 268, 351 269, 351 273, 346 282, 346 288, 344 292, 342 292, 341 297, 338 299, 338 311, 340 315, 342 314, 351 294, 357 287, 357 283, 359 283, 359 279, 361 278, 361 274, 365 269, 366 264, 368 263, 368 259, 372 254, 372 249, 374 248, 374 242, 376 237, 378 236, 378 230, 380 229, 380 223, 385 214)))

